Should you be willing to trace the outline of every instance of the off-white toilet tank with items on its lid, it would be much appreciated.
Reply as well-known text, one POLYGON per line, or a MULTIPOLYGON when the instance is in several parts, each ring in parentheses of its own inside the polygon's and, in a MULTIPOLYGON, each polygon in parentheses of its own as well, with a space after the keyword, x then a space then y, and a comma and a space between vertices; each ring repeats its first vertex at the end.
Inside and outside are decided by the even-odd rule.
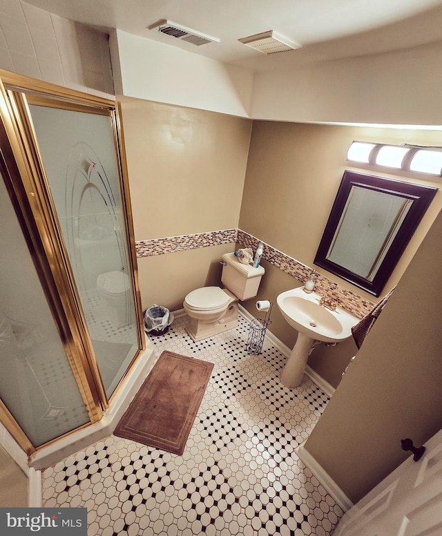
POLYGON ((240 300, 254 298, 258 294, 265 269, 262 266, 254 268, 252 265, 243 265, 235 253, 224 253, 222 260, 224 266, 221 280, 224 286, 240 300))

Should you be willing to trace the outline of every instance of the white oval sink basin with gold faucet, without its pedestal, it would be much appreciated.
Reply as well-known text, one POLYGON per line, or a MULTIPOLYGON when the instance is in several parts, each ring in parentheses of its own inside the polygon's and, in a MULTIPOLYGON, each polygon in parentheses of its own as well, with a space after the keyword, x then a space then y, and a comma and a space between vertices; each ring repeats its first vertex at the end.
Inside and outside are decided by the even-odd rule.
POLYGON ((304 287, 287 290, 276 298, 285 320, 296 331, 323 343, 339 343, 352 336, 352 327, 358 318, 336 307, 331 311, 319 305, 316 292, 307 294, 304 287))

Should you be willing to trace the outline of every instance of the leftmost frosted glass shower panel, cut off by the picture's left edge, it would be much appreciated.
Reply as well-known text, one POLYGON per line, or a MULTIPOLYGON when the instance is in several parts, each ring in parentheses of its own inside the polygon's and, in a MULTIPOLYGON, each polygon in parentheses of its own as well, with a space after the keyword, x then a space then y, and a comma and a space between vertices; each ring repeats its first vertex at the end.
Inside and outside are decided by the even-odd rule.
POLYGON ((90 421, 0 178, 0 398, 33 446, 90 421))

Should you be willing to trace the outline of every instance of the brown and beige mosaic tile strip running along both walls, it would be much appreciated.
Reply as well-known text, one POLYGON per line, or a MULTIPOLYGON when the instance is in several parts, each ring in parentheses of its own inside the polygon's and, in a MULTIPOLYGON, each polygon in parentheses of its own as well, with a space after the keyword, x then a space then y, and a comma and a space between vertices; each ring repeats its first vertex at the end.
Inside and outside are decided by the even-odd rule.
MULTIPOLYGON (((251 247, 254 251, 259 242, 258 238, 241 229, 225 229, 224 231, 140 240, 135 243, 135 247, 137 258, 143 258, 221 244, 238 244, 240 247, 251 247)), ((374 303, 319 274, 314 268, 303 265, 302 262, 289 257, 265 242, 264 245, 263 259, 286 274, 298 279, 300 283, 305 283, 311 272, 314 271, 317 276, 315 290, 318 294, 334 298, 340 307, 354 314, 354 316, 363 318, 374 307, 374 303)))

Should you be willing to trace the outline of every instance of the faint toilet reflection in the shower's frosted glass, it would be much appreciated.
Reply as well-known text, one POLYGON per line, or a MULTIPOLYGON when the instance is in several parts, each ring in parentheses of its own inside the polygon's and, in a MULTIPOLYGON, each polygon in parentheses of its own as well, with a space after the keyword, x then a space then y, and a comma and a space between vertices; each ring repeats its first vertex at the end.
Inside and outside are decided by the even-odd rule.
POLYGON ((97 290, 108 305, 111 323, 124 327, 131 323, 131 282, 124 271, 114 270, 97 277, 97 290))

